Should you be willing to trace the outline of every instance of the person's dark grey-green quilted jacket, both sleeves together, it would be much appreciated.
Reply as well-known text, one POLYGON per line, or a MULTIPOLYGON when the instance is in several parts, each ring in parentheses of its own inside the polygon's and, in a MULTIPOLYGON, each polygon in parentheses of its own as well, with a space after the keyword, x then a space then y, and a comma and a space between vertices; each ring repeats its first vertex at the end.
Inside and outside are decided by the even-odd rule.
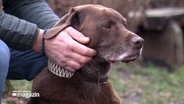
POLYGON ((44 0, 4 0, 0 39, 17 50, 32 49, 39 28, 51 28, 59 18, 44 0))

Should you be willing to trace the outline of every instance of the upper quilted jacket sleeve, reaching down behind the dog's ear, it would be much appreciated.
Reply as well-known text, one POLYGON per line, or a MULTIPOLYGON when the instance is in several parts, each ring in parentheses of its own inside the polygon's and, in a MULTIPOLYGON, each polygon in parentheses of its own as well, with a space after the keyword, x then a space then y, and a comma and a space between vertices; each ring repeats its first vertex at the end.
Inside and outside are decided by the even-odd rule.
POLYGON ((6 13, 37 24, 39 28, 51 28, 59 17, 51 10, 45 0, 6 0, 6 13))

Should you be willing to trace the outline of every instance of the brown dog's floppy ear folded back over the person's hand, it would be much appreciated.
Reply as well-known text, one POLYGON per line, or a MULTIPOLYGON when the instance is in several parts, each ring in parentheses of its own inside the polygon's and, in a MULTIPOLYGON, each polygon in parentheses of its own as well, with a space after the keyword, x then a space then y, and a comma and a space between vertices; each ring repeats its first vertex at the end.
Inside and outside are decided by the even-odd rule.
POLYGON ((53 38, 56 36, 59 32, 64 30, 65 28, 72 26, 75 29, 78 29, 80 25, 79 21, 79 12, 75 10, 75 8, 72 8, 68 14, 63 16, 54 26, 53 28, 49 29, 44 36, 46 39, 53 38))

